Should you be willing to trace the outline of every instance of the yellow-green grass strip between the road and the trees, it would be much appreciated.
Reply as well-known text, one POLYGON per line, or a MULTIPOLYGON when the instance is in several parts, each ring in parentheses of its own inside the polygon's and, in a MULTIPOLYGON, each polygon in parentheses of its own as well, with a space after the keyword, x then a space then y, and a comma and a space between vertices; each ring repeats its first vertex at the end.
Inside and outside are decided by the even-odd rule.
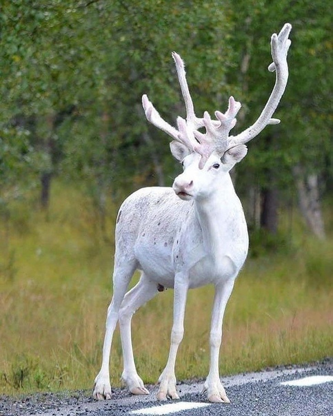
MULTIPOLYGON (((105 242, 77 189, 56 183, 53 198, 48 216, 17 202, 10 227, 0 229, 0 394, 92 388, 101 364, 116 209, 110 203, 105 242)), ((319 242, 300 222, 294 229, 286 247, 248 259, 241 271, 225 315, 221 375, 332 355, 333 238, 319 242)), ((179 379, 208 373, 212 296, 212 287, 190 291, 179 379)), ((134 355, 145 382, 156 382, 165 366, 171 325, 172 291, 134 315, 134 355)), ((119 385, 118 331, 111 365, 119 385)))

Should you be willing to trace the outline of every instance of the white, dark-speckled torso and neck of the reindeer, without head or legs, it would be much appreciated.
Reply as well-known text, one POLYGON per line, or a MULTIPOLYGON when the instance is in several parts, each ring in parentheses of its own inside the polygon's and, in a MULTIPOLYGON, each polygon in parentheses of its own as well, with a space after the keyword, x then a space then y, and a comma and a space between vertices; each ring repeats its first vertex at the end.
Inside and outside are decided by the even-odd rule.
POLYGON ((137 269, 167 288, 174 287, 174 276, 184 267, 189 289, 239 271, 248 252, 248 233, 241 202, 226 176, 209 200, 181 200, 164 187, 132 194, 119 209, 116 261, 135 259, 137 269), (226 262, 232 270, 225 269, 226 262))

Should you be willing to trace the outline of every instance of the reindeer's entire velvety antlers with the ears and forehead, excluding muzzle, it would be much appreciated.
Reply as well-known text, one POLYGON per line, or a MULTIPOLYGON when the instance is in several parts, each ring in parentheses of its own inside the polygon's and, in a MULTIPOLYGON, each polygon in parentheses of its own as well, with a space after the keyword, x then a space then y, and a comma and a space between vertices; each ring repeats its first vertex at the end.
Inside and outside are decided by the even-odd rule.
MULTIPOLYGON (((186 156, 191 155, 191 163, 186 162, 185 166, 197 162, 199 170, 208 171, 214 165, 223 165, 228 171, 239 162, 247 153, 245 143, 256 137, 266 125, 278 124, 280 120, 272 118, 276 107, 285 91, 288 79, 287 51, 290 47, 288 39, 292 25, 285 23, 279 34, 272 34, 271 53, 273 62, 268 66, 270 72, 276 72, 276 81, 270 98, 256 122, 236 136, 230 136, 230 130, 236 124, 236 114, 241 108, 241 103, 230 96, 228 110, 225 113, 216 111, 213 120, 208 112, 204 112, 202 118, 196 117, 194 105, 188 89, 185 76, 184 63, 176 52, 172 52, 176 71, 181 85, 181 93, 185 101, 186 118, 177 118, 177 128, 172 127, 163 120, 155 110, 148 96, 143 95, 142 103, 145 116, 148 121, 168 133, 174 141, 170 143, 172 154, 177 160, 182 161, 186 156), (199 132, 205 127, 205 133, 199 132), (206 167, 206 165, 209 165, 206 167)), ((181 196, 181 195, 180 195, 181 196)))

